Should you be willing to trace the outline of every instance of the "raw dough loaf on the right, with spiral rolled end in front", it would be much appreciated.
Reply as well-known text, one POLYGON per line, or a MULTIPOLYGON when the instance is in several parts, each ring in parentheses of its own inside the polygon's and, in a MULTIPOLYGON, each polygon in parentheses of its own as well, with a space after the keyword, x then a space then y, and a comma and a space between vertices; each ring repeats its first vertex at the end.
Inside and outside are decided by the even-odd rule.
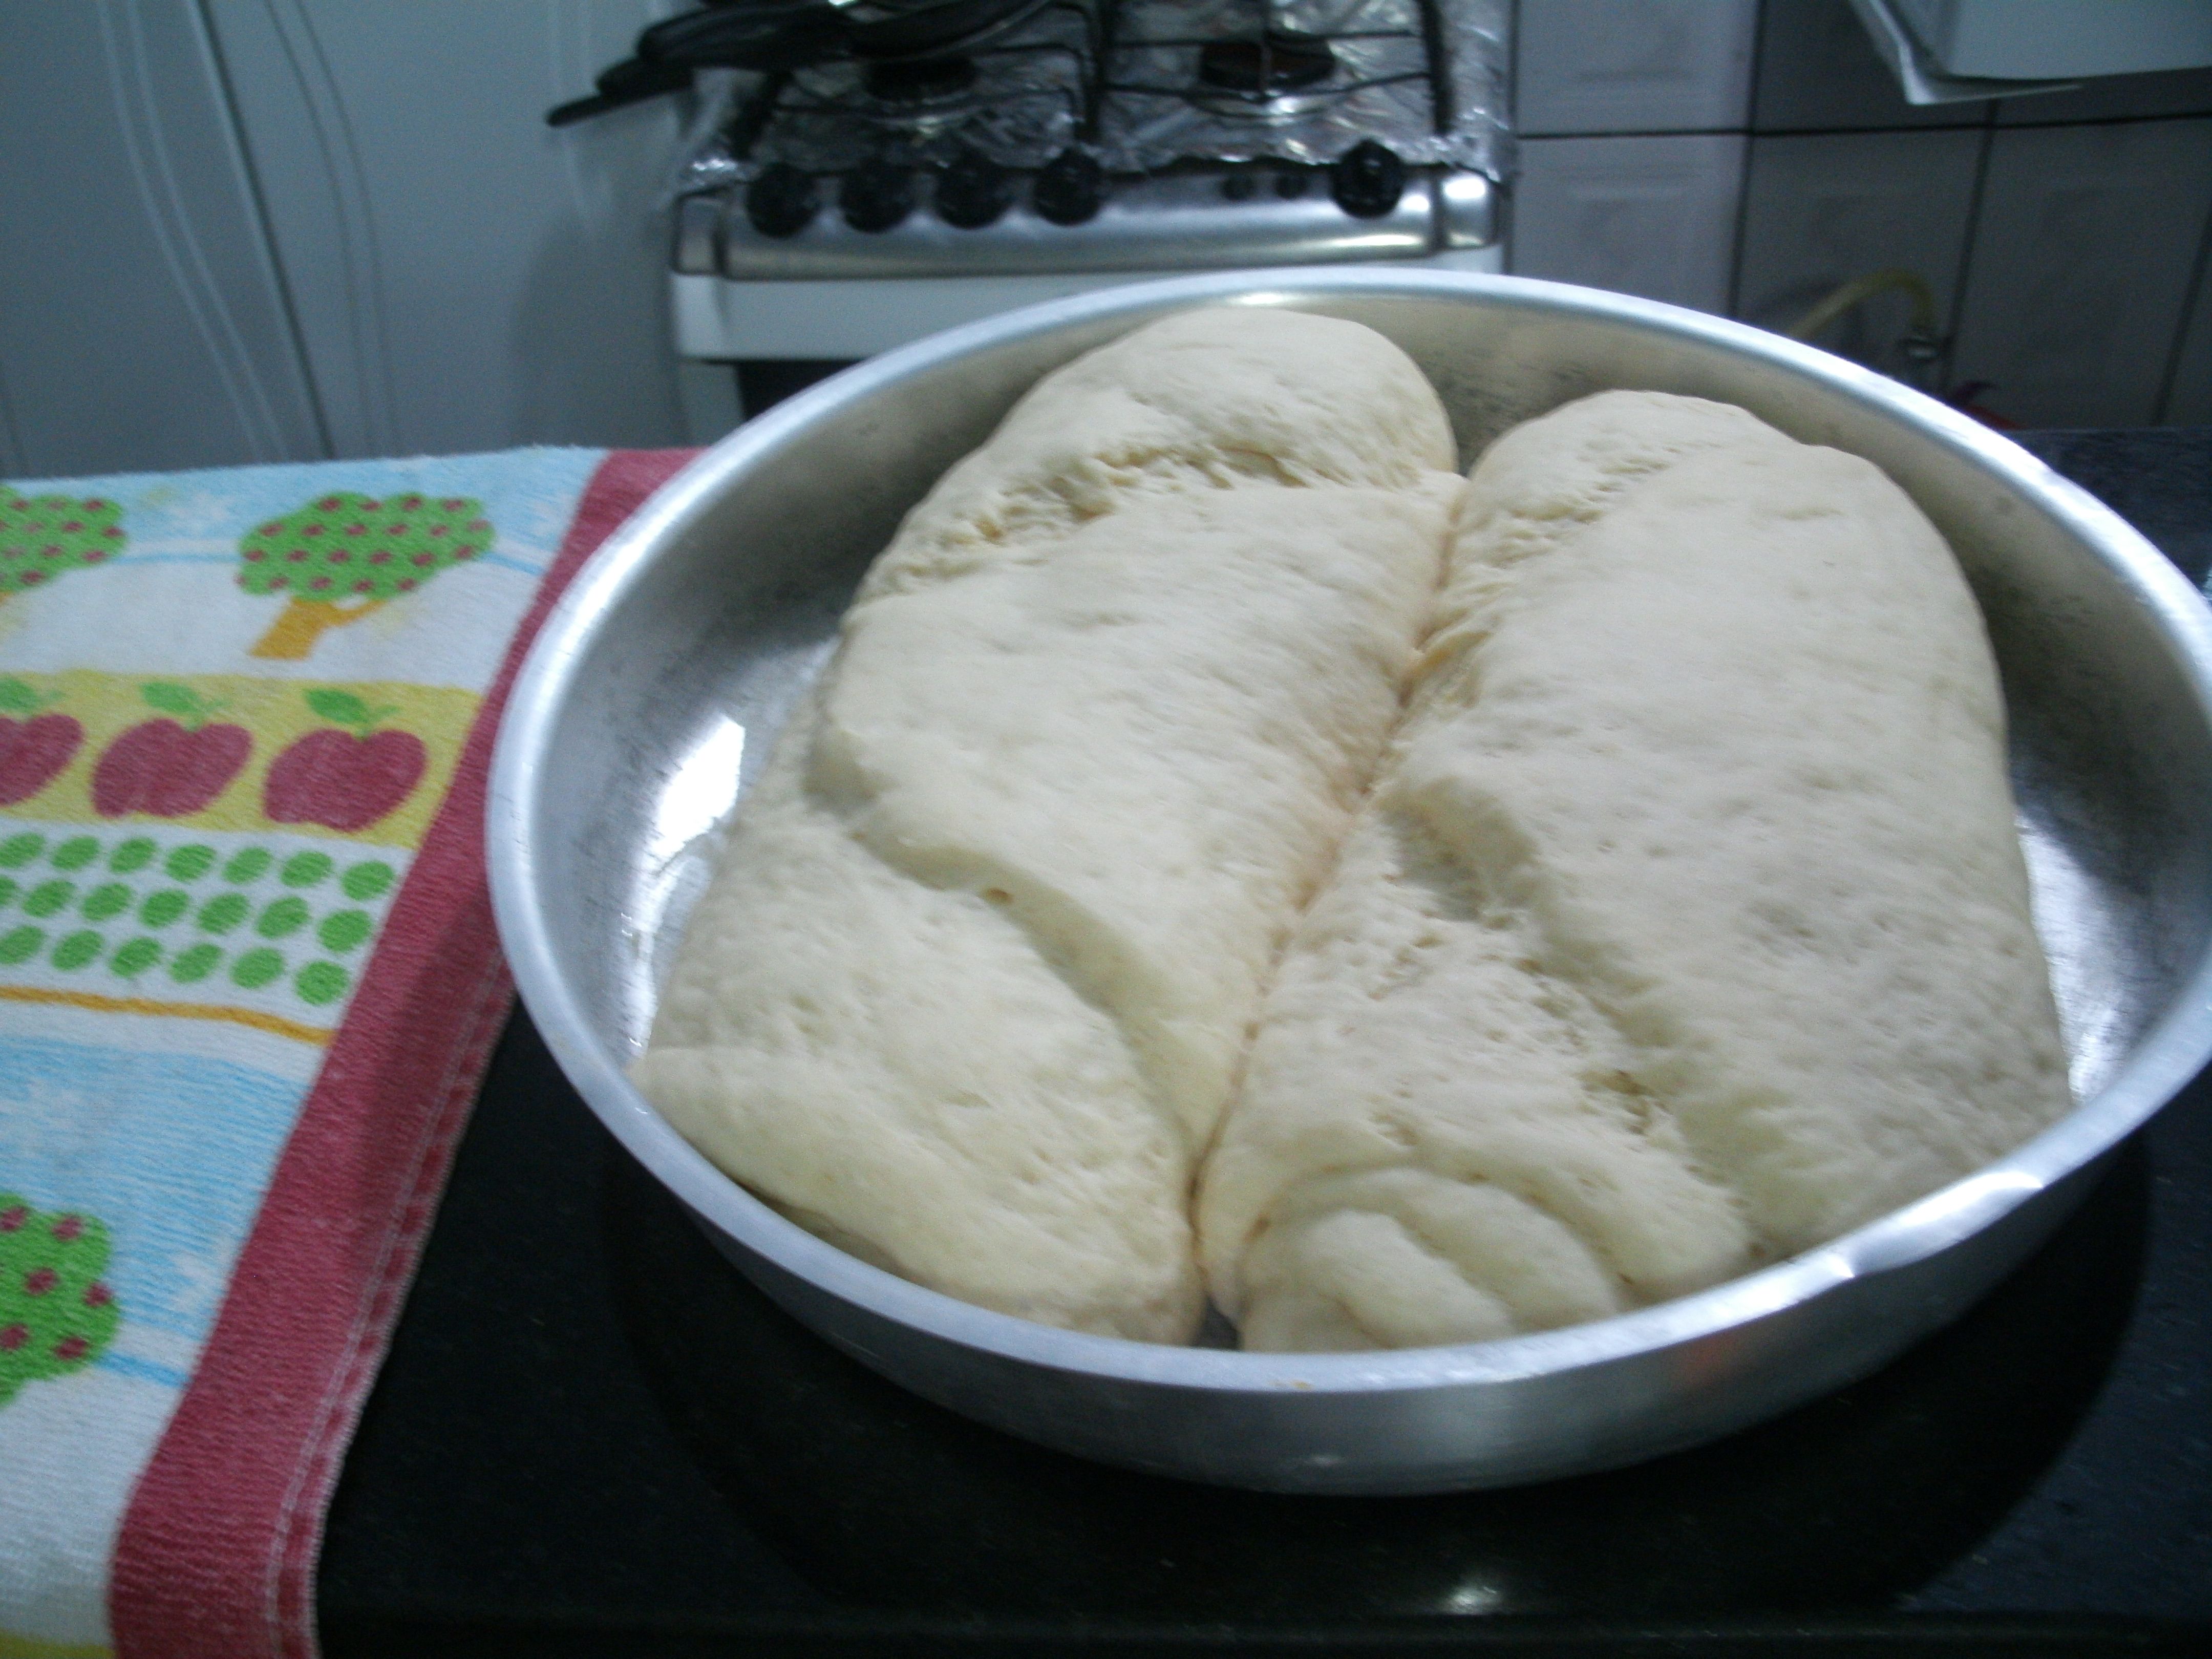
POLYGON ((1787 1256, 2066 1106, 1942 538, 1865 460, 1613 392, 1475 469, 1201 1250, 1245 1347, 1480 1340, 1787 1256))

